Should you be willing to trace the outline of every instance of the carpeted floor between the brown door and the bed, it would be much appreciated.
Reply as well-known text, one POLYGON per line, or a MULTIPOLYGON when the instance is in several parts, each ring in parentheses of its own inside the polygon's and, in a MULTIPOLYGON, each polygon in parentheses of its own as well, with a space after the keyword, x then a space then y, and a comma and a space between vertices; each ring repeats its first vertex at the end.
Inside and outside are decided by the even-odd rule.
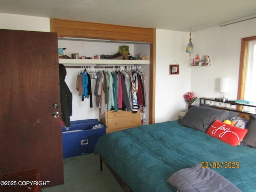
POLYGON ((111 172, 94 153, 64 159, 64 184, 42 192, 124 192, 111 172))

